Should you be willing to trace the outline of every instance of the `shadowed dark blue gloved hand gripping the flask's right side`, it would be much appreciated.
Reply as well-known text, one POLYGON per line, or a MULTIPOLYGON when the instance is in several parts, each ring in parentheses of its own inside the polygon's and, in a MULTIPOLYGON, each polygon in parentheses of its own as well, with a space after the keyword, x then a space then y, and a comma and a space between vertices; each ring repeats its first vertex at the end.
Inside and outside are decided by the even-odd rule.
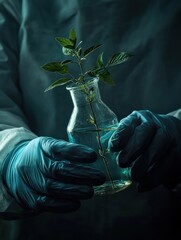
POLYGON ((181 182, 181 120, 147 110, 122 119, 109 140, 120 167, 131 167, 139 191, 181 182))

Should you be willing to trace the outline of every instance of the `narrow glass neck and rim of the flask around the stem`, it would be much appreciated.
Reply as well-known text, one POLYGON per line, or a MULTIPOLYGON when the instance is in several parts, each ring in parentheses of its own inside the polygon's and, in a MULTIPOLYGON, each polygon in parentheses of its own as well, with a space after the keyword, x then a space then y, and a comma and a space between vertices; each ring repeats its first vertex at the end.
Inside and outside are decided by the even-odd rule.
POLYGON ((90 102, 101 100, 98 81, 98 78, 94 78, 82 85, 67 86, 67 90, 70 91, 74 107, 85 106, 90 102))

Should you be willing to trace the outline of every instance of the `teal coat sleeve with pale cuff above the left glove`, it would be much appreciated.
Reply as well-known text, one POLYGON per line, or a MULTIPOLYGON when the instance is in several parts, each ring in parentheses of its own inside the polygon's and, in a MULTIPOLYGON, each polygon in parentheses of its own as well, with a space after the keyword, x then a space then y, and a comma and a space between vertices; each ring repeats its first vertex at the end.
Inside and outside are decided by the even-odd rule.
POLYGON ((7 154, 23 140, 36 137, 23 113, 19 81, 20 1, 0 0, 0 212, 13 203, 1 179, 7 154))

